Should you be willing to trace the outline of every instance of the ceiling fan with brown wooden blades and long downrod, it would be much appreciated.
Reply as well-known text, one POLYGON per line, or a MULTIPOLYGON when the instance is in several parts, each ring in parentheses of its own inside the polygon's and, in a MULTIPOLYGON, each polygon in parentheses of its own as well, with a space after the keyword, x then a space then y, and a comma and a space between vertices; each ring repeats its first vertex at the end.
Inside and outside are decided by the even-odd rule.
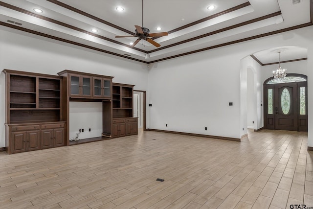
MULTIPOLYGON (((141 0, 141 25, 143 25, 143 0, 141 0)), ((146 27, 140 27, 139 25, 135 25, 135 35, 134 36, 115 36, 115 38, 126 38, 126 37, 137 37, 138 39, 134 42, 133 46, 138 44, 140 40, 145 40, 150 44, 159 47, 160 44, 156 43, 150 37, 161 37, 167 36, 167 32, 159 32, 159 33, 150 33, 150 30, 146 27)))

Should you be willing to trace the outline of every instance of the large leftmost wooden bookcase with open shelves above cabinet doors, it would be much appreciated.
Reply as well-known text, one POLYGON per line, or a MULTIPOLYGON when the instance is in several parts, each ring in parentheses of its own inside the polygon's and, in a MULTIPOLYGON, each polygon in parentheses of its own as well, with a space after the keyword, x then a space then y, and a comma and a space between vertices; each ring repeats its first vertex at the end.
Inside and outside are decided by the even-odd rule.
POLYGON ((3 70, 6 74, 6 150, 9 154, 48 148, 42 131, 56 124, 62 134, 50 147, 65 145, 62 115, 62 77, 41 73, 3 70), (61 136, 62 135, 62 136, 61 136))

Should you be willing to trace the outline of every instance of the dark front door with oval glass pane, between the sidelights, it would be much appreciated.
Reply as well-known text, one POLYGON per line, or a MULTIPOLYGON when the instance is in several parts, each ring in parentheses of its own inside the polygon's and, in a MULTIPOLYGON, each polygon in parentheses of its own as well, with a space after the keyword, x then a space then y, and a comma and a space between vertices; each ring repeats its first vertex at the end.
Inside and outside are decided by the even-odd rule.
POLYGON ((297 131, 297 83, 277 84, 274 91, 275 129, 297 131))

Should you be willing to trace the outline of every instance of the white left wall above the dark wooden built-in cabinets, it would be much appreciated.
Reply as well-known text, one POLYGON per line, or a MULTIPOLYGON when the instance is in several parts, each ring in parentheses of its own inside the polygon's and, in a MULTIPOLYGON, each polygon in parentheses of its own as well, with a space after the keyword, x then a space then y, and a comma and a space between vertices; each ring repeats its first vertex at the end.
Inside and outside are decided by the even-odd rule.
MULTIPOLYGON (((133 84, 137 90, 147 89, 145 64, 1 26, 0 70, 3 69, 52 75, 65 69, 75 70, 114 76, 113 82, 133 84)), ((0 147, 4 147, 5 76, 2 71, 0 95, 0 147)), ((77 117, 82 116, 77 114, 77 117)))

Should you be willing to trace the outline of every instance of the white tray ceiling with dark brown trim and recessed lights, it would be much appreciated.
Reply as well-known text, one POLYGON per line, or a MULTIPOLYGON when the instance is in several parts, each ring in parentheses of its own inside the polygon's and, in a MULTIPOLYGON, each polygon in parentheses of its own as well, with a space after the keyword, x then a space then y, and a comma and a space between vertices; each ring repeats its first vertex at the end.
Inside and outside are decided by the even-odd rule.
MULTIPOLYGON (((2 0, 0 21, 1 25, 151 63, 289 27, 312 25, 310 3, 313 0, 297 4, 292 0, 143 0, 142 7, 141 0, 2 0), (207 7, 212 4, 216 9, 209 11, 207 7), (117 6, 124 11, 118 12, 117 6), (44 12, 38 14, 34 8, 44 12), (150 33, 160 32, 156 27, 169 32, 155 39, 160 47, 144 40, 132 47, 129 43, 136 38, 114 38, 134 33, 134 25, 141 26, 142 21, 150 33), (91 32, 92 28, 98 32, 91 32)), ((278 62, 273 52, 276 49, 253 55, 263 64, 278 62)), ((306 56, 305 48, 286 46, 281 61, 306 56)))

